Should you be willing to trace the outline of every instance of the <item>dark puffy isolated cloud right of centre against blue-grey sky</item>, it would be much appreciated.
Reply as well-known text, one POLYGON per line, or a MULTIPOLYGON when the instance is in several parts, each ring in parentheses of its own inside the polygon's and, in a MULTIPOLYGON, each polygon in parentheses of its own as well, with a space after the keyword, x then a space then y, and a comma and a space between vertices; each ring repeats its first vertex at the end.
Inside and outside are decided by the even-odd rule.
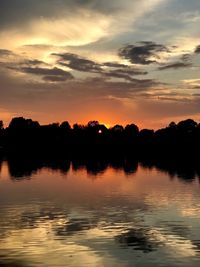
POLYGON ((139 42, 138 45, 126 45, 119 50, 119 56, 133 64, 149 65, 159 59, 158 53, 170 52, 169 49, 154 42, 139 42))

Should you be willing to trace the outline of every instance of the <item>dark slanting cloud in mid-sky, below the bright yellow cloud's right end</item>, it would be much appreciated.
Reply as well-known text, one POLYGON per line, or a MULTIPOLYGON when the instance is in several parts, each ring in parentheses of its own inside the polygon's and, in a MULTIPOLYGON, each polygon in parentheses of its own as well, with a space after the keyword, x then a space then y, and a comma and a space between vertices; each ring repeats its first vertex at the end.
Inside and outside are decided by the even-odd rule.
POLYGON ((52 55, 58 56, 60 59, 58 63, 62 66, 67 66, 70 69, 83 71, 83 72, 100 72, 101 65, 95 63, 92 60, 88 60, 86 58, 80 57, 75 54, 71 53, 64 53, 64 54, 56 54, 53 53, 52 55))

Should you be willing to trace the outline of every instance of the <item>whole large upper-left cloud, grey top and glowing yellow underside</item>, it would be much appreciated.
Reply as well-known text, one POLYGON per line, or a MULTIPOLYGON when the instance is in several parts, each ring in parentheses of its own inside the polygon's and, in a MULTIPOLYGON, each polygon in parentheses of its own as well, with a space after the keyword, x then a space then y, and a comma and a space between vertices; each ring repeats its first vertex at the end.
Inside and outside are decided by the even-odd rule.
POLYGON ((25 45, 79 47, 111 40, 133 29, 137 19, 164 1, 3 0, 0 43, 18 49, 25 45))

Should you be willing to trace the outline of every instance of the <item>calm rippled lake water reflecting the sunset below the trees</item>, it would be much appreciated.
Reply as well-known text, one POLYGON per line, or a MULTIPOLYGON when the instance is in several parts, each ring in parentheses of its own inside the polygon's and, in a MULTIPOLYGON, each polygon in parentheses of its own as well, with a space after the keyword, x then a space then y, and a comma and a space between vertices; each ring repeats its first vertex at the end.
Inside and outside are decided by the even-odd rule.
POLYGON ((29 167, 1 164, 0 266, 200 266, 195 171, 29 167))

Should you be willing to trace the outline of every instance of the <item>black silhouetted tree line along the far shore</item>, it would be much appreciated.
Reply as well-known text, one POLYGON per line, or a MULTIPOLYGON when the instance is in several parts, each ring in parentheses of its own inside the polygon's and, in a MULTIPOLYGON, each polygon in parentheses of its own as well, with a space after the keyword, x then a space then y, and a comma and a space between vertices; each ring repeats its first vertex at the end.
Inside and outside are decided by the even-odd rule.
POLYGON ((107 128, 98 121, 87 125, 68 121, 40 125, 23 117, 0 121, 1 155, 65 156, 195 156, 200 149, 200 124, 192 119, 167 127, 139 129, 134 123, 107 128))

